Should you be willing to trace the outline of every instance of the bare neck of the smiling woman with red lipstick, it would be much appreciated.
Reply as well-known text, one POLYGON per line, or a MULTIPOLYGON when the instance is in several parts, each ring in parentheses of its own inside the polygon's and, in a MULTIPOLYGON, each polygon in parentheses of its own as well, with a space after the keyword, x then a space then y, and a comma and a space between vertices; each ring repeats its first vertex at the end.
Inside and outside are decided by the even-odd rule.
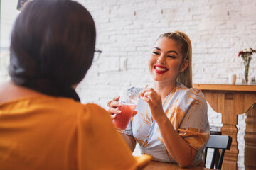
POLYGON ((171 83, 162 83, 159 81, 154 81, 154 90, 161 95, 161 100, 164 102, 164 99, 176 86, 176 81, 171 83))

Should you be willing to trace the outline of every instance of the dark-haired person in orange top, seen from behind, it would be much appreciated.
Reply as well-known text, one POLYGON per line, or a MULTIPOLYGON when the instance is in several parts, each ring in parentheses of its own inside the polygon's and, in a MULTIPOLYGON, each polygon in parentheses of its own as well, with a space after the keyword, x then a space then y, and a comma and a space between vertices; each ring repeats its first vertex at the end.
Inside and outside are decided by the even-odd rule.
POLYGON ((11 80, 0 86, 0 169, 139 169, 107 111, 75 86, 95 52, 95 23, 70 0, 33 0, 11 34, 11 80))

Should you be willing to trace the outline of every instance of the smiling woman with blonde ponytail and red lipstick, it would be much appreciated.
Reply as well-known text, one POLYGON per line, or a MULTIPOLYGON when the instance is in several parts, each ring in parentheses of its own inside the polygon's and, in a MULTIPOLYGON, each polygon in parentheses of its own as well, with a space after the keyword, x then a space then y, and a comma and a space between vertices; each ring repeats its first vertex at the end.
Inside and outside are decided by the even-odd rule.
MULTIPOLYGON (((142 154, 159 162, 204 166, 203 148, 209 138, 206 98, 192 87, 192 46, 180 31, 164 33, 149 55, 149 72, 154 86, 131 88, 142 94, 137 114, 122 134, 132 151, 136 143, 142 154)), ((118 98, 108 103, 109 111, 122 114, 118 98)), ((121 106, 122 107, 122 106, 121 106)), ((112 115, 114 118, 115 115, 112 115)))

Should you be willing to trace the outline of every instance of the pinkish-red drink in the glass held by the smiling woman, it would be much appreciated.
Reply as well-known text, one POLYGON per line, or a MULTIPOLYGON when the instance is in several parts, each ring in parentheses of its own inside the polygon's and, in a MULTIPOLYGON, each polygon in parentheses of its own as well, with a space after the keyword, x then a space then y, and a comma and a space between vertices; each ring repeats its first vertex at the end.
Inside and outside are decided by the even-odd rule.
POLYGON ((122 111, 121 113, 117 114, 113 120, 114 126, 119 130, 125 130, 129 123, 129 120, 132 118, 132 114, 134 113, 134 109, 136 105, 127 104, 119 107, 118 109, 122 111))

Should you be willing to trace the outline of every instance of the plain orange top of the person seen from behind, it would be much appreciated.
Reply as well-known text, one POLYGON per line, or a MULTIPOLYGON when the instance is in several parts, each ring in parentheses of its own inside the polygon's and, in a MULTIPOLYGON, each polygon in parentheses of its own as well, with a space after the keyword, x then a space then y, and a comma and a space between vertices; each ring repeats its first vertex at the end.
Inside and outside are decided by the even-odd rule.
POLYGON ((109 113, 70 98, 0 104, 0 169, 139 169, 109 113))

